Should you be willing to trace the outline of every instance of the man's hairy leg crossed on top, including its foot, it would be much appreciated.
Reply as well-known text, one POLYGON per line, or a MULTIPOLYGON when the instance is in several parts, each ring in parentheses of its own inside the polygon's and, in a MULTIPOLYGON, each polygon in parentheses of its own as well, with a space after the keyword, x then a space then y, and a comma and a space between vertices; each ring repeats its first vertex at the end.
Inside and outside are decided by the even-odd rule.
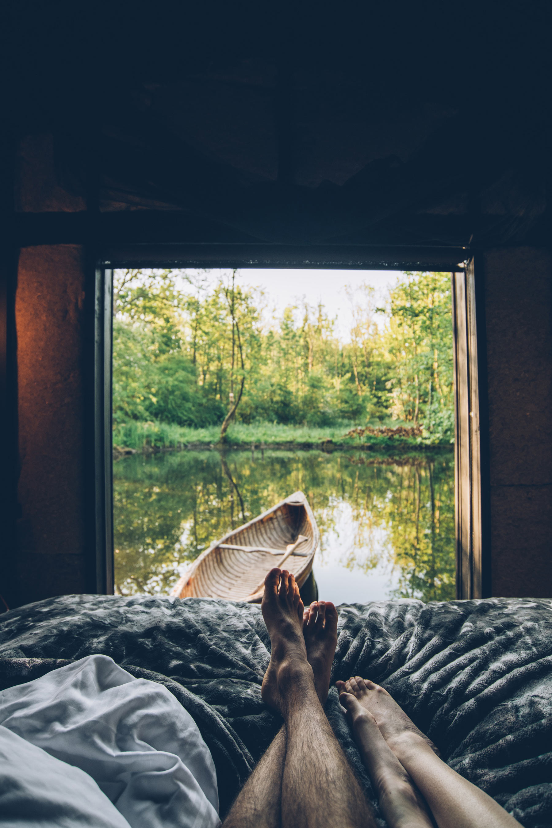
POLYGON ((262 696, 286 722, 281 825, 371 828, 375 823, 366 798, 316 693, 299 604, 293 575, 286 570, 271 570, 262 600, 272 645, 262 696))

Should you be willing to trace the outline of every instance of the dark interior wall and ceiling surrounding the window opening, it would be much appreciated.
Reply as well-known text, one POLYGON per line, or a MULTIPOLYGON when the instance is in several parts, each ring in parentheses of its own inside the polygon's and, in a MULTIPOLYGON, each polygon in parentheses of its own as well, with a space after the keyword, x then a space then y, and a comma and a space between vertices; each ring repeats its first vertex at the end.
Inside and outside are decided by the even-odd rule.
MULTIPOLYGON (((492 594, 552 595, 550 2, 368 4, 366 20, 343 4, 141 5, 115 0, 98 28, 89 7, 12 3, 2 262, 22 253, 17 353, 16 268, 0 269, 0 411, 8 444, 19 429, 21 516, 0 592, 95 589, 83 250, 185 243, 258 245, 252 262, 277 245, 374 262, 383 246, 394 267, 406 248, 487 250, 492 594)), ((424 256, 409 269, 435 267, 424 256)))

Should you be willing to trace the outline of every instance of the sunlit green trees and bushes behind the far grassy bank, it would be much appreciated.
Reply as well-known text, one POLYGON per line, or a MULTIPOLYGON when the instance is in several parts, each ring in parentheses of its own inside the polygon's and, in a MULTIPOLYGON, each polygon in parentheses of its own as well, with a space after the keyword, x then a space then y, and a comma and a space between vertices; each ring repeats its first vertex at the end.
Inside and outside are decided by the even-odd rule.
POLYGON ((435 442, 453 439, 449 274, 404 274, 384 310, 369 286, 348 291, 347 342, 322 304, 290 303, 267 321, 262 294, 236 282, 230 302, 228 274, 213 282, 208 272, 116 272, 116 426, 218 425, 243 383, 238 422, 324 427, 392 417, 423 426, 435 442))

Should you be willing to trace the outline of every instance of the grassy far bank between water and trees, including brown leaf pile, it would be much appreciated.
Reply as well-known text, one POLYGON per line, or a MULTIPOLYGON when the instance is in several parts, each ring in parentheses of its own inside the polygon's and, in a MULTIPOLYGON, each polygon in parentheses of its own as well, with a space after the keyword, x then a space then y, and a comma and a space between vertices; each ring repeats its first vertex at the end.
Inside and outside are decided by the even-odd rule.
MULTIPOLYGON (((449 446, 451 440, 440 435, 430 435, 419 429, 417 433, 407 425, 355 428, 352 422, 334 426, 286 426, 281 423, 233 423, 227 431, 224 445, 234 449, 259 448, 361 448, 366 450, 396 450, 424 448, 425 446, 449 446), (349 433, 354 431, 355 433, 349 433)), ((113 429, 113 445, 116 453, 124 450, 156 451, 182 449, 209 449, 220 446, 220 427, 188 428, 164 422, 129 421, 119 423, 113 429)))

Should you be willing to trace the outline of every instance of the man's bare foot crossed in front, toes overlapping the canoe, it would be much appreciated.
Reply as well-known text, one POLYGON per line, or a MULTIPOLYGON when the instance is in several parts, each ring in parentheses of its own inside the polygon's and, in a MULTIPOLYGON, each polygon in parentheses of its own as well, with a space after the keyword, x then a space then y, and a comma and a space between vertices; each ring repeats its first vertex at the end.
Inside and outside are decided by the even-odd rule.
POLYGON ((266 575, 261 609, 271 637, 271 661, 262 680, 262 699, 283 714, 291 689, 297 693, 309 684, 314 687, 303 638, 303 602, 288 570, 275 568, 266 575))

